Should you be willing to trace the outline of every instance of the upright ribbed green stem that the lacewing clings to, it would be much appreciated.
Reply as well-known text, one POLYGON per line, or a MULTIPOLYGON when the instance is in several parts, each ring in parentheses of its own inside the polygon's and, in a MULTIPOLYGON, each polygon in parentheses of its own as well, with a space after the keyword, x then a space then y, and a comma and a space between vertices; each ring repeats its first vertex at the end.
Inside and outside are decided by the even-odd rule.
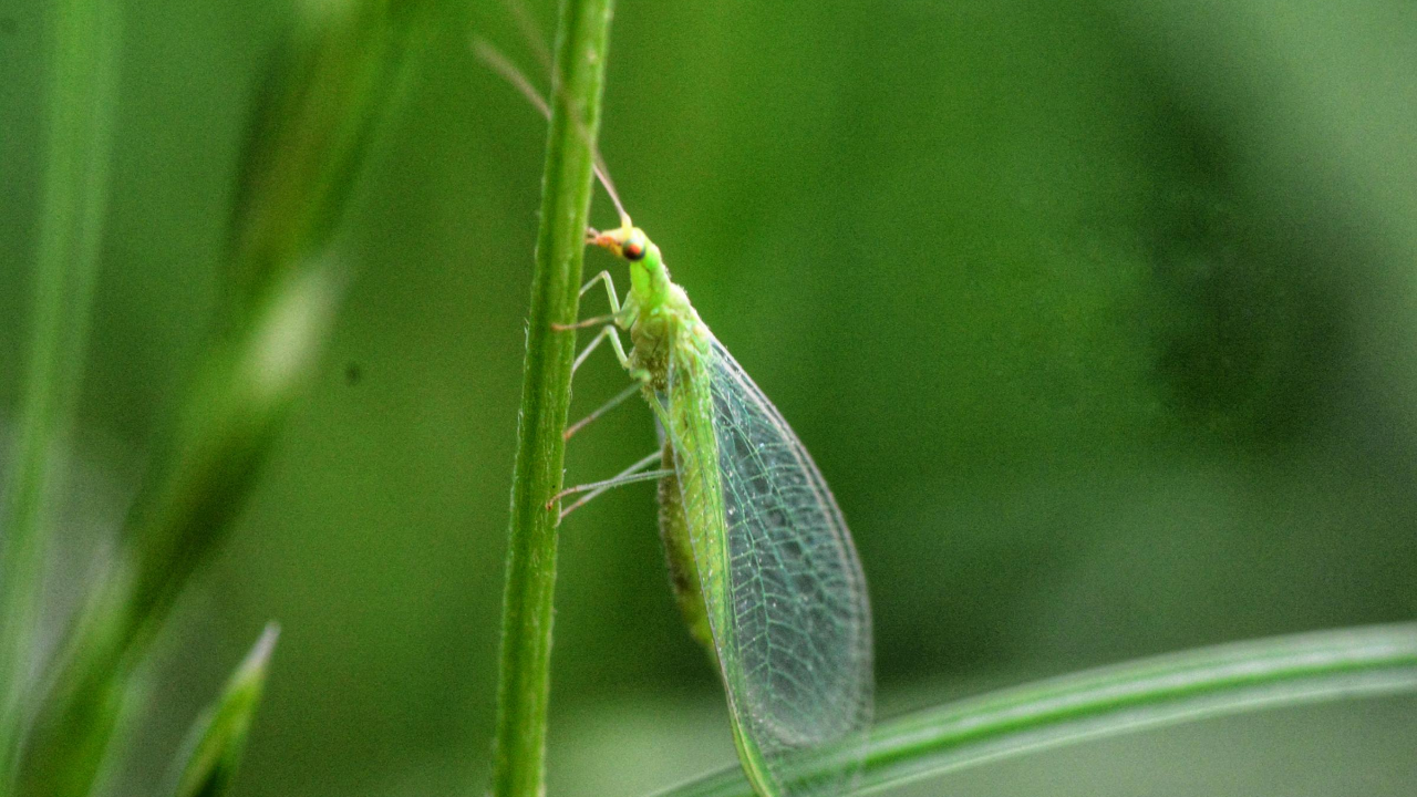
POLYGON ((551 688, 551 597, 555 519, 547 502, 561 489, 561 438, 571 391, 581 255, 591 203, 591 153, 599 125, 611 0, 563 0, 557 28, 551 129, 541 182, 541 227, 521 383, 512 485, 502 669, 493 752, 495 797, 541 797, 551 688))

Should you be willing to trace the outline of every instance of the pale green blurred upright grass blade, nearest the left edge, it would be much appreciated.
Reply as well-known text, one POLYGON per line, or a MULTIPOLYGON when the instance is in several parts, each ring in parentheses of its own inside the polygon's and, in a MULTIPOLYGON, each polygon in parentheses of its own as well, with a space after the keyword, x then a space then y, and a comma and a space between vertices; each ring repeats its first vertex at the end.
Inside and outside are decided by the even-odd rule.
POLYGON ((0 508, 0 794, 31 692, 50 486, 78 393, 108 206, 122 4, 51 3, 48 145, 30 352, 0 508))

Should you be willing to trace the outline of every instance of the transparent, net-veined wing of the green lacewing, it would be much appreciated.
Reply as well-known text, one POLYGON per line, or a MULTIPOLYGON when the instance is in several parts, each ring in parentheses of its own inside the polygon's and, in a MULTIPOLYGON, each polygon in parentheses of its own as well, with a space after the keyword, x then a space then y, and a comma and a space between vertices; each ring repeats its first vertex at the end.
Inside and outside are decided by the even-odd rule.
MULTIPOLYGON (((850 788, 859 756, 811 781, 794 774, 794 760, 832 743, 864 752, 874 691, 866 580, 796 434, 717 340, 710 355, 707 367, 672 357, 669 391, 670 404, 682 390, 711 400, 718 489, 682 489, 744 767, 750 779, 767 776, 760 790, 835 794, 850 788), (721 505, 710 505, 714 495, 721 505), (726 539, 711 539, 716 528, 726 539), (752 771, 754 753, 765 773, 752 771)), ((691 482, 691 458, 677 457, 682 485, 691 482)))

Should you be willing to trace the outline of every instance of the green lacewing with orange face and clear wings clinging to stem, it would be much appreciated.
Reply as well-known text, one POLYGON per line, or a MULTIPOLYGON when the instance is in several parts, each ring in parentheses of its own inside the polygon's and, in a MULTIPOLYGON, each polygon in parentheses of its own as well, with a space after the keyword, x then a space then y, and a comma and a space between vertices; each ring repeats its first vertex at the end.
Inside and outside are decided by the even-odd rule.
MULTIPOLYGON (((509 64, 483 57, 507 77, 509 64)), ((621 302, 609 272, 599 272, 581 294, 604 285, 611 315, 558 329, 599 328, 574 367, 608 340, 636 383, 587 421, 640 393, 663 445, 612 479, 563 491, 548 509, 587 494, 564 518, 611 486, 657 479, 670 580, 691 635, 718 668, 750 783, 761 797, 842 793, 860 771, 874 692, 856 547, 806 448, 670 279, 597 160, 621 227, 589 230, 587 244, 629 265, 629 292, 621 302), (629 333, 628 353, 621 332, 629 333), (809 774, 803 763, 828 746, 847 750, 833 760, 849 763, 809 774)))

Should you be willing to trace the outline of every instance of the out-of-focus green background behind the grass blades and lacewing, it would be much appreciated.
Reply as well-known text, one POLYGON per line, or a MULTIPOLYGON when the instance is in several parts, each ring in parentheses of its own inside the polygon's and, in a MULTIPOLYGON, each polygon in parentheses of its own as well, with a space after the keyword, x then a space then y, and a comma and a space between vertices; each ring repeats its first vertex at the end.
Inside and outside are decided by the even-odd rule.
MULTIPOLYGON (((531 13, 550 31, 550 4, 531 13)), ((128 3, 55 615, 191 376, 293 18, 290 0, 128 3)), ((357 278, 316 391, 164 637, 113 794, 150 793, 268 618, 283 635, 239 794, 483 788, 544 125, 469 51, 479 34, 540 71, 503 4, 438 20, 336 243, 357 278)), ((6 414, 45 26, 44 3, 0 4, 6 414)), ((605 157, 846 512, 881 715, 1417 614, 1413 4, 623 0, 611 52, 605 157)), ((592 216, 614 220, 602 194, 592 216)), ((595 357, 572 414, 623 384, 595 357)), ((568 479, 653 447, 626 406, 575 438, 568 479)), ((563 526, 555 796, 733 762, 652 491, 563 526)), ((1367 701, 907 791, 1413 794, 1414 749, 1417 702, 1367 701)))

